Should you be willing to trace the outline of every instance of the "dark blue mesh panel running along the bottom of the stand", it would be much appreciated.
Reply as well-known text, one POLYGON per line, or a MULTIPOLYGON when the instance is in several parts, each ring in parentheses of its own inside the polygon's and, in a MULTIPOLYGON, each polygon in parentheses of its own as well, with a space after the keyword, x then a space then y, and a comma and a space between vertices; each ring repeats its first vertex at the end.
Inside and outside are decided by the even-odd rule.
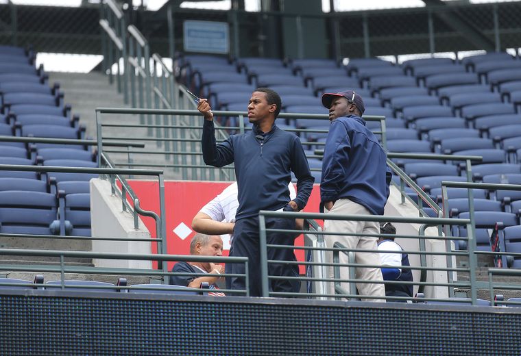
POLYGON ((377 307, 356 302, 149 295, 88 298, 69 293, 1 295, 1 355, 521 352, 518 307, 377 307))

